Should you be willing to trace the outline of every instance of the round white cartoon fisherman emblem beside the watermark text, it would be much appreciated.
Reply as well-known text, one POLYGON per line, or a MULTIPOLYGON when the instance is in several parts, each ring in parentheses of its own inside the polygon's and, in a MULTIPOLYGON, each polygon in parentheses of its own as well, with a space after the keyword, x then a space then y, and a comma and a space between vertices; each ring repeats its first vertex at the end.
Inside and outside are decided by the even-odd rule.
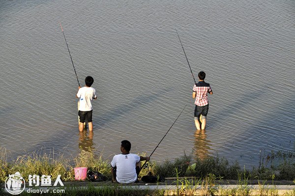
POLYGON ((8 176, 5 180, 5 189, 8 193, 12 195, 18 195, 25 190, 26 182, 25 179, 21 176, 20 172, 15 172, 8 176))

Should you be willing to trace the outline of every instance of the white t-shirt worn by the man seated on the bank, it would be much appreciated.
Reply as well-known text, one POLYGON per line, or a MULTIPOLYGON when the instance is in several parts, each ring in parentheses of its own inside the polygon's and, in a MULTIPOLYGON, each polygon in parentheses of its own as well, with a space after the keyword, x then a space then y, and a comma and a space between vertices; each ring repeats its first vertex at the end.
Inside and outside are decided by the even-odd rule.
POLYGON ((119 154, 115 155, 111 165, 117 166, 117 181, 118 183, 132 183, 137 180, 135 166, 140 162, 140 157, 135 154, 119 154))

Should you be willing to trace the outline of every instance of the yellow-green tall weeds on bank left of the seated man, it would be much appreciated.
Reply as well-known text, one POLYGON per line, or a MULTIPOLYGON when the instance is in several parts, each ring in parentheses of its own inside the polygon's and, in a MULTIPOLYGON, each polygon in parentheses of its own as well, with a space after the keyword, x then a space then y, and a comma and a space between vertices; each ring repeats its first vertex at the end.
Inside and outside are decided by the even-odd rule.
POLYGON ((7 152, 0 148, 0 182, 4 182, 9 174, 20 172, 27 181, 29 175, 51 176, 56 180, 61 175, 62 181, 74 181, 74 167, 88 167, 89 170, 99 171, 107 177, 111 176, 111 166, 109 161, 102 159, 102 156, 95 157, 93 152, 82 151, 73 160, 65 159, 62 155, 54 156, 54 153, 32 152, 23 156, 18 156, 15 160, 7 162, 4 157, 7 152))

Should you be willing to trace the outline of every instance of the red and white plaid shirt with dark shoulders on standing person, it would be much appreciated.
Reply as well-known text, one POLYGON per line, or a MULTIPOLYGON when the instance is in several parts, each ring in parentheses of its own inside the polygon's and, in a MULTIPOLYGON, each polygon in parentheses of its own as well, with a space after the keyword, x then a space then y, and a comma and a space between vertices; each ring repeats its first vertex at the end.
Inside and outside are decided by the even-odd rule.
POLYGON ((212 91, 210 84, 204 81, 199 81, 196 83, 193 92, 196 92, 195 104, 198 106, 204 106, 208 104, 208 95, 212 91))

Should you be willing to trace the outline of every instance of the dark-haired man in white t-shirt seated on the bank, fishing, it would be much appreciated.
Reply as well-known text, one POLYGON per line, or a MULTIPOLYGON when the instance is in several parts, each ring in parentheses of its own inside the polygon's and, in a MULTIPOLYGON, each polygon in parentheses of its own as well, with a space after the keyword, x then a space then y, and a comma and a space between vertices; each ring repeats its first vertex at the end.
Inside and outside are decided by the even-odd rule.
POLYGON ((140 161, 149 161, 149 157, 129 153, 130 149, 131 143, 129 141, 121 141, 122 154, 115 155, 111 162, 113 182, 133 183, 138 181, 137 178, 141 170, 140 161))

